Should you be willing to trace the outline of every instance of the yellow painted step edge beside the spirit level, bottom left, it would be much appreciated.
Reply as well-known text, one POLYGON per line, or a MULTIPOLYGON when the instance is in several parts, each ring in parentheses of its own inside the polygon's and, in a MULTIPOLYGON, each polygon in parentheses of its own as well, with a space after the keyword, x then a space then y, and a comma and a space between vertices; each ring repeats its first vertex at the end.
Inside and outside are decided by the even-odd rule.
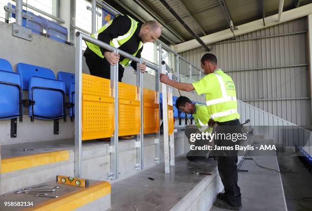
POLYGON ((64 194, 59 198, 49 199, 39 203, 34 207, 23 209, 24 211, 69 211, 95 201, 98 198, 111 193, 111 184, 109 182, 98 182, 89 188, 79 188, 71 193, 64 194))

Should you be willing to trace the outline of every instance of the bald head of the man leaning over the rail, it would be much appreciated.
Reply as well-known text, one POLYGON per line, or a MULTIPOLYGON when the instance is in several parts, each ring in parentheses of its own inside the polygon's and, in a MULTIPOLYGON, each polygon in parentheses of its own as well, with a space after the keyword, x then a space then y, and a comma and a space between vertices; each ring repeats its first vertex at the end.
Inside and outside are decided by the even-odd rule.
POLYGON ((154 42, 162 34, 161 24, 154 20, 149 20, 141 26, 139 37, 143 43, 154 42))

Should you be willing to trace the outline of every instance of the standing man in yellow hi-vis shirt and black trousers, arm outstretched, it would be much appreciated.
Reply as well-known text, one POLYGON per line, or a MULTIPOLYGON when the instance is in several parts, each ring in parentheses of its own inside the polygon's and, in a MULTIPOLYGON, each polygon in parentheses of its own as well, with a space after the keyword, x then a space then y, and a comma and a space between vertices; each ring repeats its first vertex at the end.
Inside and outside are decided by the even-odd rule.
POLYGON ((160 81, 182 91, 191 92, 195 89, 198 95, 205 94, 210 118, 218 124, 216 128, 218 138, 215 138, 214 144, 218 145, 219 149, 215 152, 216 148, 214 147, 213 153, 214 156, 218 156, 219 175, 225 190, 225 193, 218 194, 215 205, 226 209, 240 210, 242 209, 242 199, 237 183, 236 166, 238 150, 235 150, 237 143, 234 138, 231 138, 241 133, 235 84, 231 77, 218 67, 217 57, 214 54, 204 54, 200 62, 206 75, 199 81, 176 82, 170 80, 165 74, 160 74, 160 81))

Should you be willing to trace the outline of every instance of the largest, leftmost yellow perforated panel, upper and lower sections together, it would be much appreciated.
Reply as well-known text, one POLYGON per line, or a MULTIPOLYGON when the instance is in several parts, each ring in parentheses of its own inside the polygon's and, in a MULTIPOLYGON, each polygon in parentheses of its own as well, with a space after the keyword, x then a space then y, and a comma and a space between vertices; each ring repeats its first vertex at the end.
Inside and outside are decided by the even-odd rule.
POLYGON ((112 137, 114 98, 110 80, 82 74, 82 140, 112 137))

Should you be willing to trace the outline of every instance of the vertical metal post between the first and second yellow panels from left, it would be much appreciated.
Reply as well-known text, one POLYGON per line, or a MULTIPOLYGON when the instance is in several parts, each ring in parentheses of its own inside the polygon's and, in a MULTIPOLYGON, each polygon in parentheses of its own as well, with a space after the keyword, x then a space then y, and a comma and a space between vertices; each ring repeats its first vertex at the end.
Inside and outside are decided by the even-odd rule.
MULTIPOLYGON (((95 0, 94 0, 95 1, 95 0)), ((114 50, 118 53, 117 50, 114 50)), ((111 65, 111 88, 114 98, 114 136, 111 137, 111 172, 108 173, 108 179, 118 179, 118 64, 111 65)))

